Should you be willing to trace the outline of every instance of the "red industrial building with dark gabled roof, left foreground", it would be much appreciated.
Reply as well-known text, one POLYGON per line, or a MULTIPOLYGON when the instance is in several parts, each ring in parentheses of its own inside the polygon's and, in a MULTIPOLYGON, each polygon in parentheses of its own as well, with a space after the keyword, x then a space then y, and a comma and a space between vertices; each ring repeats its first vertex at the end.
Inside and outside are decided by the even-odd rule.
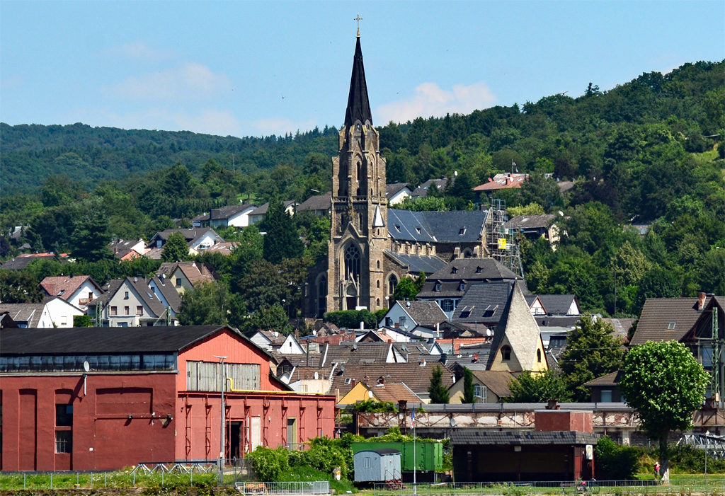
POLYGON ((223 385, 227 458, 334 435, 336 398, 231 327, 1 329, 0 470, 218 460, 223 385))

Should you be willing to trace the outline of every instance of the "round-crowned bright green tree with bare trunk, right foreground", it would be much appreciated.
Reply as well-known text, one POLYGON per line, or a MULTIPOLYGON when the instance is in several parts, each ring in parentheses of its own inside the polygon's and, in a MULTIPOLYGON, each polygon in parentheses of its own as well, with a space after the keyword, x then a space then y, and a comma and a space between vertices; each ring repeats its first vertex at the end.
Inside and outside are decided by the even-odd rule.
POLYGON ((667 437, 684 431, 702 403, 710 377, 681 342, 647 342, 624 359, 619 383, 626 402, 639 415, 640 428, 660 443, 660 474, 669 480, 667 437))

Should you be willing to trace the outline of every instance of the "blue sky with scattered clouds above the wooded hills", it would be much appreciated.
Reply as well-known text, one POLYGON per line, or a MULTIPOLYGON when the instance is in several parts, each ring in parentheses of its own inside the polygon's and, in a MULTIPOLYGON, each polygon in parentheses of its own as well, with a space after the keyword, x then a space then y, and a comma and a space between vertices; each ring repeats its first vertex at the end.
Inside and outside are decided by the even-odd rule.
POLYGON ((721 0, 3 0, 0 120, 235 136, 339 126, 356 14, 376 125, 725 59, 721 0))

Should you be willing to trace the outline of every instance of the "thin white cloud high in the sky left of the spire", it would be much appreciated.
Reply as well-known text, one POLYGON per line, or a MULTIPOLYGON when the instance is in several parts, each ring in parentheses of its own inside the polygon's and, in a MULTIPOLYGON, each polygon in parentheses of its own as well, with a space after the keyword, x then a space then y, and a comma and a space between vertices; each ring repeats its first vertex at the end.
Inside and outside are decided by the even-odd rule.
POLYGON ((188 62, 141 77, 128 77, 109 88, 112 96, 133 100, 199 100, 231 89, 226 75, 215 74, 209 67, 188 62))

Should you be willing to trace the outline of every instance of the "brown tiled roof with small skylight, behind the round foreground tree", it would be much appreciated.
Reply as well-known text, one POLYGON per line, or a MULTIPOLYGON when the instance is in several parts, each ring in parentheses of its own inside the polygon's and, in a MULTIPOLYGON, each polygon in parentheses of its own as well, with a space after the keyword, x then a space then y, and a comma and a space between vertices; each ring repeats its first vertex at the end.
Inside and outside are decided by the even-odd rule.
MULTIPOLYGON (((708 298, 709 300, 709 298, 708 298)), ((708 306, 705 300, 703 308, 708 306)), ((702 310, 697 310, 697 298, 647 298, 639 315, 637 331, 630 345, 647 341, 679 341, 695 324, 702 310), (668 329, 674 322, 674 329, 668 329)))

